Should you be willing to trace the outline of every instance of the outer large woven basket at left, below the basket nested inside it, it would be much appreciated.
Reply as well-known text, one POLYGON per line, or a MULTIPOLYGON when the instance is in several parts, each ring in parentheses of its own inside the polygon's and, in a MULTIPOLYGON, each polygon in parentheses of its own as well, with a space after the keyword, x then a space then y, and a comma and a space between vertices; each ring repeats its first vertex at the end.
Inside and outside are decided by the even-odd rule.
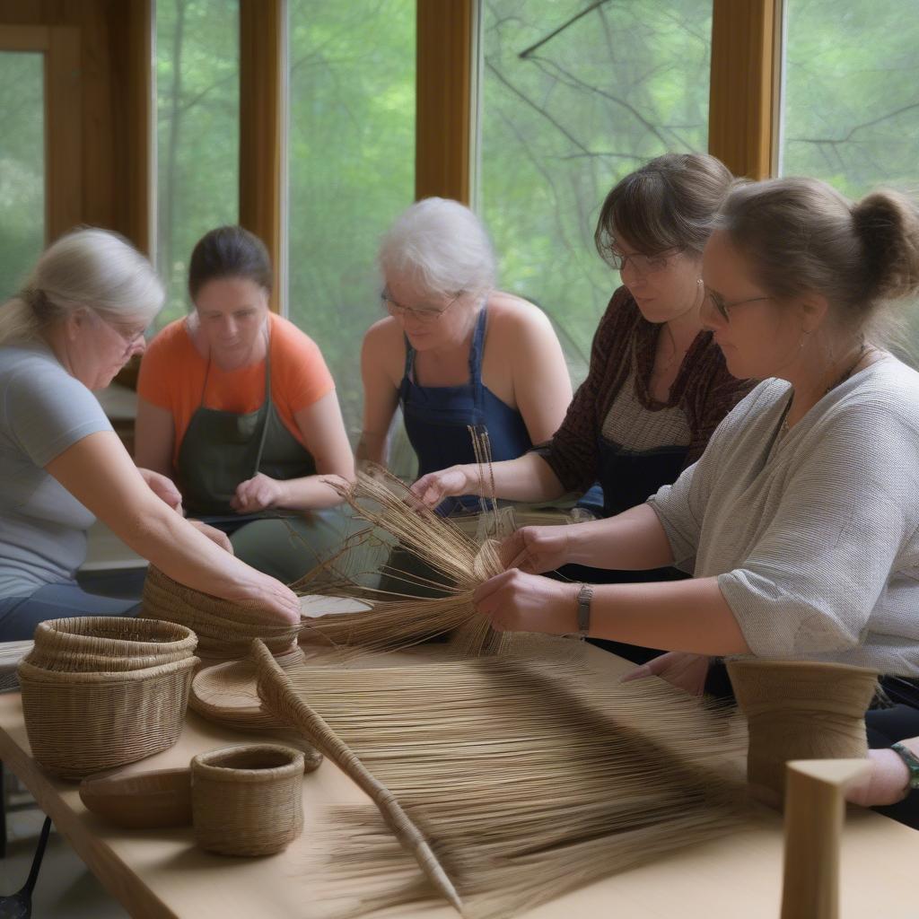
POLYGON ((178 739, 197 657, 143 670, 62 673, 22 661, 22 710, 33 758, 83 778, 168 749, 178 739))

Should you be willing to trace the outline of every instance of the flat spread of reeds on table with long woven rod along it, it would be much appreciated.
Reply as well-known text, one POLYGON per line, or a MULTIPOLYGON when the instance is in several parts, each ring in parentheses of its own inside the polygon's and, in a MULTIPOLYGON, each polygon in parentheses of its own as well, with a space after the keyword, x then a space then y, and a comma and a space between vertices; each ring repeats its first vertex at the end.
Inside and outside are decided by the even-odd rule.
POLYGON ((253 654, 265 708, 382 818, 339 815, 334 873, 356 912, 439 893, 464 915, 513 915, 742 812, 743 736, 653 678, 610 683, 545 655, 282 671, 257 642, 253 654))

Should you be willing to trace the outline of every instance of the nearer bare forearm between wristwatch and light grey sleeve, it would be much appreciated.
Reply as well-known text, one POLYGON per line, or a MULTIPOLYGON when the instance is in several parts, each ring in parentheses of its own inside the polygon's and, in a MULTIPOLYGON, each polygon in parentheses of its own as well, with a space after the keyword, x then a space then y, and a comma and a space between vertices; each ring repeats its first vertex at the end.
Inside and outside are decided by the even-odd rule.
POLYGON ((661 651, 750 653, 714 577, 653 584, 599 584, 594 588, 590 623, 593 638, 661 651))

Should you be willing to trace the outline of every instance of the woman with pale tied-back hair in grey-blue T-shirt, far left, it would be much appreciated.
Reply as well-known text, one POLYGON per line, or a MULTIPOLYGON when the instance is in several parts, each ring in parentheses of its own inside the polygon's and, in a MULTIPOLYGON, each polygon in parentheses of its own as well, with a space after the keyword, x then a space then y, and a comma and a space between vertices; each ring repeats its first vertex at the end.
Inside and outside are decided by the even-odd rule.
POLYGON ((31 638, 43 619, 134 611, 136 600, 76 583, 96 516, 176 581, 299 620, 287 587, 176 513, 175 487, 135 467, 91 392, 142 352, 162 303, 140 253, 83 229, 52 244, 0 306, 0 641, 31 638))

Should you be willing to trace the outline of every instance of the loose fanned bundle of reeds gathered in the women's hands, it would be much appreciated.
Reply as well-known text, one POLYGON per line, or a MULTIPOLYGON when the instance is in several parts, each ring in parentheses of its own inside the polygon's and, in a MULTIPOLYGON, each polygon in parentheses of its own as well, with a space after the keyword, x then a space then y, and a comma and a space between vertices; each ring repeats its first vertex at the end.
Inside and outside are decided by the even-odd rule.
MULTIPOLYGON (((357 596, 369 609, 312 620, 301 640, 322 639, 336 646, 359 645, 364 650, 404 648, 419 641, 451 635, 460 654, 494 652, 512 641, 495 632, 472 603, 475 588, 504 570, 494 539, 482 544, 470 535, 469 525, 458 525, 448 517, 407 500, 408 487, 389 472, 376 469, 360 473, 350 488, 340 494, 358 515, 411 552, 434 570, 437 580, 389 571, 390 580, 407 585, 436 588, 446 596, 398 596, 361 587, 347 565, 359 549, 359 540, 343 548, 335 559, 323 563, 297 584, 300 593, 315 592, 357 596)), ((484 525, 476 526, 500 535, 500 519, 489 512, 484 525)))

